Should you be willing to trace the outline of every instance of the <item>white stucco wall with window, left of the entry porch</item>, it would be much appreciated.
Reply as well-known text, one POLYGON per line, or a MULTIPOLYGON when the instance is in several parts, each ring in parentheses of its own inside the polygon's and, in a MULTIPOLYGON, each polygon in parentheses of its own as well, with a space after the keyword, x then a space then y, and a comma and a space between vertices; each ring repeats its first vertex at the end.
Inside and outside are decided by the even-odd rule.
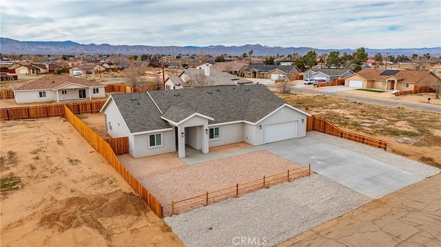
POLYGON ((155 133, 145 133, 141 135, 134 135, 134 145, 130 145, 130 154, 134 158, 144 156, 156 155, 161 153, 170 153, 176 151, 176 142, 174 140, 174 130, 160 131, 155 133), (149 147, 149 136, 155 133, 162 133, 162 146, 149 147))

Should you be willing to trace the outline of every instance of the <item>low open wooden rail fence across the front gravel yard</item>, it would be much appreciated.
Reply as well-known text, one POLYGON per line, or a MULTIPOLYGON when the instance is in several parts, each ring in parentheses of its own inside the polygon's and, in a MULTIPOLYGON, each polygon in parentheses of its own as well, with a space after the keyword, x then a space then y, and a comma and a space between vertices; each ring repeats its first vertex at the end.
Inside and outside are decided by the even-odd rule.
POLYGON ((263 176, 263 178, 259 178, 256 180, 251 180, 240 184, 236 183, 233 186, 228 186, 223 189, 218 189, 216 191, 207 191, 206 193, 203 193, 201 195, 188 197, 183 200, 178 200, 176 202, 172 201, 172 215, 176 213, 176 209, 183 208, 185 206, 191 206, 194 204, 203 204, 203 206, 207 206, 209 200, 212 200, 214 198, 218 198, 218 200, 225 200, 232 195, 234 195, 234 197, 238 197, 239 192, 245 189, 264 188, 265 186, 269 186, 271 182, 274 183, 276 181, 282 182, 283 180, 287 180, 289 182, 289 179, 292 175, 297 175, 299 173, 304 173, 305 175, 311 175, 311 163, 307 164, 304 167, 298 167, 295 169, 283 171, 281 173, 276 173, 269 176, 263 176), (182 204, 184 202, 185 204, 182 204), (176 204, 181 204, 181 205, 176 205, 176 204))

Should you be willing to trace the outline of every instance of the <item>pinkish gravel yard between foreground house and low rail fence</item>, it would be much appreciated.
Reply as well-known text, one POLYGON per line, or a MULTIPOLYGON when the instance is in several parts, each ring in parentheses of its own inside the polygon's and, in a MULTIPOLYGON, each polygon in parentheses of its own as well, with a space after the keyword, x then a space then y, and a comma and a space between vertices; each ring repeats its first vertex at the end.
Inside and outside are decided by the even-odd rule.
MULTIPOLYGON (((194 197, 207 191, 223 189, 236 183, 256 180, 263 178, 264 175, 273 175, 297 167, 299 167, 297 164, 267 151, 256 151, 192 166, 178 167, 172 171, 143 178, 140 182, 161 202, 164 215, 170 215, 172 200, 194 197)), ((250 191, 252 190, 243 191, 241 194, 250 191)), ((234 195, 232 193, 230 197, 234 195)), ((203 197, 197 198, 197 200, 201 199, 203 197)), ((220 197, 217 202, 223 199, 225 198, 220 197)), ((210 200, 210 202, 214 201, 210 200)), ((198 206, 203 206, 203 203, 195 207, 198 206)), ((178 212, 190 209, 192 208, 180 208, 178 212)))

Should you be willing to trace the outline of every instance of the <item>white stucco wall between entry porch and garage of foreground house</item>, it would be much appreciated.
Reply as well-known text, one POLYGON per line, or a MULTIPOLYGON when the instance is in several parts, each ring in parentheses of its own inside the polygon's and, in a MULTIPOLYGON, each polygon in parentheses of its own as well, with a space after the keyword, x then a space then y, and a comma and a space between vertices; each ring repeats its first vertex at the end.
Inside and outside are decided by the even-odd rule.
POLYGON ((243 122, 231 125, 210 125, 209 128, 219 127, 219 139, 209 140, 209 147, 243 142, 243 122))

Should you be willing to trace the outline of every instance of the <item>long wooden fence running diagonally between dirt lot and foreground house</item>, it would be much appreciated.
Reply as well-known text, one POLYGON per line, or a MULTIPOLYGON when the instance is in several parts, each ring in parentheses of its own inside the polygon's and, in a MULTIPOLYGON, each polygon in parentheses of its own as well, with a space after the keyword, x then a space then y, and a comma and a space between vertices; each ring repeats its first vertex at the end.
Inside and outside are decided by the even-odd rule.
POLYGON ((147 202, 147 204, 152 208, 152 211, 156 213, 159 217, 163 217, 163 207, 161 204, 156 200, 156 198, 147 191, 144 186, 134 178, 132 174, 129 173, 119 162, 118 158, 116 158, 116 155, 114 151, 112 150, 112 147, 110 147, 110 144, 107 143, 99 134, 95 133, 88 125, 85 125, 83 121, 81 121, 78 117, 76 117, 72 111, 68 108, 68 106, 64 107, 65 110, 65 116, 68 118, 69 122, 72 124, 72 126, 75 127, 79 133, 81 133, 81 136, 87 140, 96 151, 98 151, 105 160, 116 170, 118 173, 124 178, 125 182, 132 186, 134 191, 138 193, 139 196, 147 202))

